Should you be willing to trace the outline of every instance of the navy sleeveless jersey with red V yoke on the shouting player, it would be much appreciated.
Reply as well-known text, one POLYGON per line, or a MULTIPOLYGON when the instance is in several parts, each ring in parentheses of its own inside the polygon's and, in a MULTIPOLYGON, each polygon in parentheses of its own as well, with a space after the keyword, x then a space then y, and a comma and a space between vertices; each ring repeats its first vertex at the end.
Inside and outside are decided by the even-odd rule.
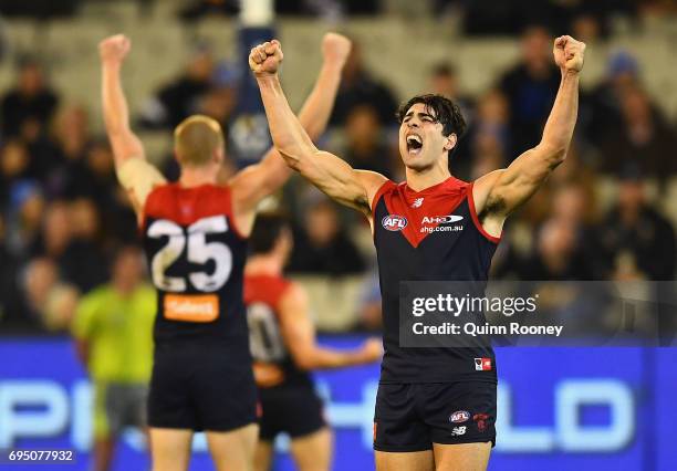
POLYGON ((384 322, 382 383, 496 381, 493 350, 399 345, 399 290, 406 281, 486 282, 499 242, 482 228, 472 184, 454 177, 415 191, 386 181, 372 203, 384 322), (478 368, 476 359, 481 360, 478 368))

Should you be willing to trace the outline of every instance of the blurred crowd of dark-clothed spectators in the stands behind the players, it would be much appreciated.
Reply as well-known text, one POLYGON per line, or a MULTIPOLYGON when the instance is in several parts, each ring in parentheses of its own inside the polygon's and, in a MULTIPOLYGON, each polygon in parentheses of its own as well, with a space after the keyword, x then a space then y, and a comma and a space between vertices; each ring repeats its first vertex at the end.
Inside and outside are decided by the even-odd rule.
MULTIPOLYGON (((445 10, 456 3, 436 6, 445 10)), ((595 24, 604 25, 593 13, 595 24)), ((455 176, 473 179, 504 167, 538 142, 560 82, 551 46, 546 28, 524 28, 520 61, 479 96, 464 93, 459 64, 441 62, 430 70, 429 91, 456 101, 469 123, 452 155, 455 176)), ((233 78, 200 49, 181 76, 148 98, 137 126, 170 133, 195 112, 228 129, 238 94, 233 78)), ((356 168, 400 180, 394 112, 403 98, 369 72, 357 44, 324 143, 356 168)), ((39 61, 19 63, 14 86, 1 94, 0 116, 0 329, 63 332, 80 297, 110 279, 116 251, 135 242, 134 212, 116 182, 108 144, 91 129, 101 117, 63 103, 39 61)), ((493 275, 673 280, 677 214, 666 213, 659 202, 677 176, 675 148, 676 124, 649 97, 637 59, 614 52, 605 78, 582 93, 566 161, 504 228, 493 275), (601 205, 597 190, 610 180, 617 192, 611 206, 601 205)), ((165 174, 176 179, 171 158, 165 163, 165 174)), ((300 179, 285 188, 283 200, 295 222, 290 272, 363 275, 363 317, 354 327, 377 327, 366 221, 300 179)))

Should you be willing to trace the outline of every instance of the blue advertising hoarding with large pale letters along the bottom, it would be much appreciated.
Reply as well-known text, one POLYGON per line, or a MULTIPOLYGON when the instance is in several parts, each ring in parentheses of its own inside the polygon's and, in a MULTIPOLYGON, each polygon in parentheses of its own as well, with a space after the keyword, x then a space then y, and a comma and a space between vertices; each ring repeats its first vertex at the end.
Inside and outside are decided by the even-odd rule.
MULTIPOLYGON (((362 338, 324 337, 333 347, 362 338)), ((86 470, 92 390, 67 338, 0 339, 0 449, 73 449, 86 470)), ((671 470, 677 350, 502 348, 497 350, 498 440, 491 470, 671 470)), ((334 469, 373 469, 376 365, 315 375, 335 430, 334 469)), ((293 467, 278 443, 275 470, 293 467)), ((210 470, 204 438, 192 470, 210 470)), ((129 430, 114 469, 146 469, 143 436, 129 430)), ((21 465, 11 469, 20 470, 21 465)), ((30 469, 33 469, 30 467, 30 469)))

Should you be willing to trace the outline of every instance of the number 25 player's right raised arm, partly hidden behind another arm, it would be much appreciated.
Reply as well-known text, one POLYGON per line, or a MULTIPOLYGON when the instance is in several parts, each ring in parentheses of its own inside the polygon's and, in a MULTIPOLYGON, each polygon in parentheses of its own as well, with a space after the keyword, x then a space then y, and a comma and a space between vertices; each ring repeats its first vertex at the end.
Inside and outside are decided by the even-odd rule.
MULTIPOLYGON (((330 33, 323 40, 322 69, 313 91, 299 113, 301 126, 311 139, 319 138, 326 128, 350 46, 350 41, 337 34, 330 33)), ((282 187, 290 175, 291 170, 273 147, 259 164, 247 167, 229 181, 236 217, 241 229, 251 226, 258 203, 282 187)), ((247 229, 244 231, 248 232, 247 229)))

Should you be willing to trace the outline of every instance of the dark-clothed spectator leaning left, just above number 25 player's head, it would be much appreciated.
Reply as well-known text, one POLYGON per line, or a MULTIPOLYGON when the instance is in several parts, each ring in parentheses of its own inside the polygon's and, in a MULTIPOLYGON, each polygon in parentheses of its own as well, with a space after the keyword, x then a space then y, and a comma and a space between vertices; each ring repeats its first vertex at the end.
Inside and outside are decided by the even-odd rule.
POLYGON ((212 86, 213 72, 211 49, 198 44, 184 73, 160 88, 144 106, 140 124, 154 129, 174 129, 184 118, 197 112, 199 100, 212 86))

